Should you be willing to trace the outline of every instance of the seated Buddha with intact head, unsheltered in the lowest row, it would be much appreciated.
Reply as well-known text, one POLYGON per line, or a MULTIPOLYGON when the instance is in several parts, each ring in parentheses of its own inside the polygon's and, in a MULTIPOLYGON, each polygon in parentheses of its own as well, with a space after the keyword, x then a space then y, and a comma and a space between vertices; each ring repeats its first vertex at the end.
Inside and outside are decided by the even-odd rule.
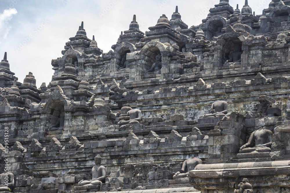
POLYGON ((92 168, 92 176, 91 180, 81 180, 79 181, 79 186, 88 186, 88 185, 102 185, 106 179, 106 168, 101 166, 102 157, 97 155, 95 157, 95 166, 92 168))

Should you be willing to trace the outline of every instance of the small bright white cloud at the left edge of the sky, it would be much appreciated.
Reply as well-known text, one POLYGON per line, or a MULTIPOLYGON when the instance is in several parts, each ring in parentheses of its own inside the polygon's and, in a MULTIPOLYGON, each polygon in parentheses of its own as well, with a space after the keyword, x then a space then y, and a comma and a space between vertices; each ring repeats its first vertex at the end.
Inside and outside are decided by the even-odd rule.
POLYGON ((3 13, 0 14, 0 43, 2 39, 7 38, 11 28, 8 24, 8 21, 12 19, 14 14, 17 14, 17 10, 15 8, 6 9, 3 11, 3 13))

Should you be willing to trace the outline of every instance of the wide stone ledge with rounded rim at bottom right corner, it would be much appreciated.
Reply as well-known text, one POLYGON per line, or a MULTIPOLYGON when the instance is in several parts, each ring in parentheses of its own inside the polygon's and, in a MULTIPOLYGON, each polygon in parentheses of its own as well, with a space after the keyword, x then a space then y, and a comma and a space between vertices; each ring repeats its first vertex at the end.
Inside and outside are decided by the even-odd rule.
POLYGON ((247 177, 254 192, 268 192, 269 185, 273 185, 271 192, 280 192, 281 187, 289 187, 289 164, 289 160, 199 164, 189 172, 189 183, 202 193, 213 189, 218 193, 234 192, 247 177))

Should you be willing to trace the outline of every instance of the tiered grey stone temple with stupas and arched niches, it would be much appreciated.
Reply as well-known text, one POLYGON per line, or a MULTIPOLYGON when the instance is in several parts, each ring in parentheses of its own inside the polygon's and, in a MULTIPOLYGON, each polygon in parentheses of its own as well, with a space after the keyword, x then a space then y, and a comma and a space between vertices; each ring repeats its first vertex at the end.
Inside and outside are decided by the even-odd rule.
POLYGON ((290 1, 262 15, 229 3, 191 27, 176 7, 145 33, 134 15, 108 53, 82 22, 40 88, 5 53, 0 173, 9 157, 14 182, 0 190, 289 192, 290 1), (96 155, 104 179, 84 186, 96 155))

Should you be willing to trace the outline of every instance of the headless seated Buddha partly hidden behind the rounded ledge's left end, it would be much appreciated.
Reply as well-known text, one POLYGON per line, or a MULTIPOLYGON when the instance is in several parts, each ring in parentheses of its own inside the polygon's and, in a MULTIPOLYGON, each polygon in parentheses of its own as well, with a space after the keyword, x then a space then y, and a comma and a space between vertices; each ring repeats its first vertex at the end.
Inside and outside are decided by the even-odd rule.
POLYGON ((175 173, 173 179, 188 177, 189 171, 194 170, 197 164, 202 164, 202 160, 196 157, 186 159, 182 164, 181 170, 175 173))

